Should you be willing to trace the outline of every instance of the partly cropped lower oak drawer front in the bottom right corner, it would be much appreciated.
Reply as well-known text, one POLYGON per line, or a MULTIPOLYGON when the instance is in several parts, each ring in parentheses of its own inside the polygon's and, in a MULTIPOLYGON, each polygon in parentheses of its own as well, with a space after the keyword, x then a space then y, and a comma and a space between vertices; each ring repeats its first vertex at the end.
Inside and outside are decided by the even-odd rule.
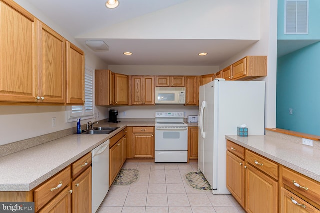
POLYGON ((280 213, 320 213, 320 210, 284 188, 281 188, 280 201, 280 213))

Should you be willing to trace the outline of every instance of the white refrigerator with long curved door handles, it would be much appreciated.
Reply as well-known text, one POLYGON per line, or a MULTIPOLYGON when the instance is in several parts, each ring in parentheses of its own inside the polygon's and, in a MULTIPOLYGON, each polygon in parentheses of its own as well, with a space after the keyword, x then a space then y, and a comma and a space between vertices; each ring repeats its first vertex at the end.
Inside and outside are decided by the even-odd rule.
POLYGON ((264 135, 264 81, 215 79, 199 91, 198 168, 213 194, 226 188, 226 139, 246 124, 249 135, 264 135))

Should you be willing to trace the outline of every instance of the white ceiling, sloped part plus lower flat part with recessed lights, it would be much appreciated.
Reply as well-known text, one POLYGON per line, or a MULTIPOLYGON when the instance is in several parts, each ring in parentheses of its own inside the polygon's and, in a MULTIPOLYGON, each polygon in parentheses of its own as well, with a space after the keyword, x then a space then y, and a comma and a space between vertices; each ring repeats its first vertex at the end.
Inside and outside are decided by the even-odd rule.
MULTIPOLYGON (((28 0, 74 38, 188 0, 119 0, 107 9, 106 0, 28 0)), ((84 41, 77 39, 85 46, 84 41)), ((109 65, 220 65, 257 40, 108 39, 109 51, 93 52, 109 65), (133 52, 131 56, 123 52, 133 52), (207 52, 206 56, 198 56, 207 52)), ((91 51, 91 50, 88 50, 91 51)))

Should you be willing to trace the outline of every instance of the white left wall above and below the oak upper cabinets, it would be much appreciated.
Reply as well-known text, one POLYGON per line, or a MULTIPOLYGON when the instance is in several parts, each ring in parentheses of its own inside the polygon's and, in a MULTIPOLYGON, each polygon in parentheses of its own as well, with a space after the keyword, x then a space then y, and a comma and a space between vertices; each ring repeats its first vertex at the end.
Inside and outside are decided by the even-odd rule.
MULTIPOLYGON (((48 19, 45 14, 34 8, 26 0, 15 0, 39 20, 47 24, 70 42, 79 46, 85 52, 85 66, 90 69, 106 69, 107 64, 91 54, 86 48, 76 42, 65 29, 48 19)), ((95 107, 100 117, 91 121, 107 118, 107 108, 95 107)), ((82 121, 85 124, 88 120, 82 121)), ((66 123, 66 106, 0 106, 0 145, 24 140, 27 138, 56 132, 75 127, 76 122, 66 123), (52 127, 52 117, 56 118, 56 126, 52 127)))

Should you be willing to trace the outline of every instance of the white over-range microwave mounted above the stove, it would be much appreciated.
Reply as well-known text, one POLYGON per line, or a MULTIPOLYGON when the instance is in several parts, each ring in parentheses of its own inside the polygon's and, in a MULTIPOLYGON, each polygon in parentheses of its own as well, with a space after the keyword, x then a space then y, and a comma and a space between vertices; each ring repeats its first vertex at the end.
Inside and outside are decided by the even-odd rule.
POLYGON ((156 104, 185 104, 185 87, 155 87, 156 104))

